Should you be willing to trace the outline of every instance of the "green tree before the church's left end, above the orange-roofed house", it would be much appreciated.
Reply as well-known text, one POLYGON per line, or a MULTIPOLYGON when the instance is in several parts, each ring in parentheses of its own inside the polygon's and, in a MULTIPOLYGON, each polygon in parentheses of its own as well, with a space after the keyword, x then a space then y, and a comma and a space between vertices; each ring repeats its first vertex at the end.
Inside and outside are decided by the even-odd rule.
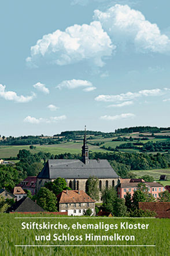
POLYGON ((53 182, 45 183, 45 188, 51 190, 54 194, 60 194, 62 190, 71 190, 71 188, 66 186, 66 181, 64 178, 57 178, 53 182))

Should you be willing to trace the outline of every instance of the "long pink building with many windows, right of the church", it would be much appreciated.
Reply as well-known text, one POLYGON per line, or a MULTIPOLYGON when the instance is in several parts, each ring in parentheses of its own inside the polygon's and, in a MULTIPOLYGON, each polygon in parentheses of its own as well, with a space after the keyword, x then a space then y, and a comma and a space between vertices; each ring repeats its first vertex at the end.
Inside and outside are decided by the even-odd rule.
MULTIPOLYGON (((133 196, 134 192, 138 189, 138 184, 141 182, 123 182, 120 183, 117 188, 119 198, 125 198, 126 193, 130 193, 133 196)), ((148 192, 152 194, 156 199, 159 197, 160 192, 164 192, 165 188, 157 182, 143 182, 148 189, 148 192)))

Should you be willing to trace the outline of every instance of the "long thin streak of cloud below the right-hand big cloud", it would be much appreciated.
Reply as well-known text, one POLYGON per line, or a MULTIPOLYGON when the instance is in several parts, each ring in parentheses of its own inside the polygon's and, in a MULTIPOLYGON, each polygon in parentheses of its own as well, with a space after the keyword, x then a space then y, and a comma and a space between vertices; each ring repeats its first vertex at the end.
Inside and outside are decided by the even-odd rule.
POLYGON ((95 98, 98 102, 122 102, 125 100, 132 100, 142 96, 160 96, 164 95, 167 91, 167 88, 164 89, 150 89, 150 90, 142 90, 139 92, 127 92, 120 93, 117 95, 99 95, 95 98))

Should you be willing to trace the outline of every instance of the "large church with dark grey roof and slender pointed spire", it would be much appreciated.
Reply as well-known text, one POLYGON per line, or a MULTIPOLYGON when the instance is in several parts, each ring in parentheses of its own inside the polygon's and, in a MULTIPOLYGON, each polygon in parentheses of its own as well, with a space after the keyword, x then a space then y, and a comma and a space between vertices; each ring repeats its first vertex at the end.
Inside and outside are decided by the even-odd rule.
POLYGON ((99 190, 114 187, 119 181, 119 176, 113 170, 108 160, 88 159, 88 146, 86 128, 82 146, 82 161, 79 159, 56 159, 48 160, 42 171, 37 176, 36 190, 53 182, 58 177, 64 178, 67 186, 73 190, 84 190, 87 192, 87 179, 95 176, 99 180, 99 190))

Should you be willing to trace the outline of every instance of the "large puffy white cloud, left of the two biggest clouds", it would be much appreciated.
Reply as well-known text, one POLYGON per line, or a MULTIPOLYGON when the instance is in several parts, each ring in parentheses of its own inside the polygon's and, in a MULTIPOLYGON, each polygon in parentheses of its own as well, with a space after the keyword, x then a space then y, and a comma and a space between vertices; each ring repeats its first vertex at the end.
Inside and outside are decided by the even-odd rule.
POLYGON ((26 61, 36 67, 43 59, 46 63, 58 65, 93 60, 95 65, 102 67, 102 58, 112 55, 115 48, 101 23, 93 21, 90 25, 75 24, 65 31, 56 30, 52 34, 43 35, 42 39, 31 47, 31 56, 27 57, 26 61))

